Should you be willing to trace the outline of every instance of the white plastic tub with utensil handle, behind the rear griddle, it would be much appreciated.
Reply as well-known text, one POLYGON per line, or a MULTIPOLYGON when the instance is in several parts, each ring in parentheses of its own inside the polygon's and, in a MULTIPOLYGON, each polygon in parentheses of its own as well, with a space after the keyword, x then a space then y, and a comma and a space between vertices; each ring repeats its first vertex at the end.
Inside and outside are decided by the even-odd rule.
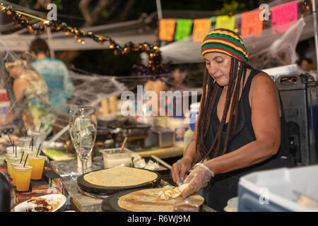
POLYGON ((104 160, 105 168, 117 167, 122 164, 128 167, 131 164, 131 155, 134 154, 134 152, 127 148, 124 148, 122 150, 122 153, 119 153, 120 149, 121 148, 110 148, 100 150, 100 153, 102 153, 102 158, 104 160))

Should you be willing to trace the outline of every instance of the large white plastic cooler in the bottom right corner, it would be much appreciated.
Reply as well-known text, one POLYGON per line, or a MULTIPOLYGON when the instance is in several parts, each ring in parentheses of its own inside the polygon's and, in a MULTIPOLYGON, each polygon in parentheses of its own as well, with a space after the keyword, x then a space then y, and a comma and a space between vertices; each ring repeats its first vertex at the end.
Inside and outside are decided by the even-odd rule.
POLYGON ((239 211, 318 211, 318 165, 253 172, 240 178, 239 211), (308 198, 309 197, 309 198, 308 198))

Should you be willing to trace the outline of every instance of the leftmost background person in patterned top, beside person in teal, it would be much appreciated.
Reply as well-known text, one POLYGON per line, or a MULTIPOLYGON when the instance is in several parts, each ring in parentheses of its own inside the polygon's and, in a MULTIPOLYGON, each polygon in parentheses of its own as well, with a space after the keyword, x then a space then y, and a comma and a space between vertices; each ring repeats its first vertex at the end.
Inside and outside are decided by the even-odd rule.
POLYGON ((16 103, 9 106, 0 125, 10 124, 22 114, 24 126, 33 131, 49 133, 55 112, 49 102, 49 90, 43 78, 28 66, 27 61, 8 57, 4 64, 13 82, 16 103))

